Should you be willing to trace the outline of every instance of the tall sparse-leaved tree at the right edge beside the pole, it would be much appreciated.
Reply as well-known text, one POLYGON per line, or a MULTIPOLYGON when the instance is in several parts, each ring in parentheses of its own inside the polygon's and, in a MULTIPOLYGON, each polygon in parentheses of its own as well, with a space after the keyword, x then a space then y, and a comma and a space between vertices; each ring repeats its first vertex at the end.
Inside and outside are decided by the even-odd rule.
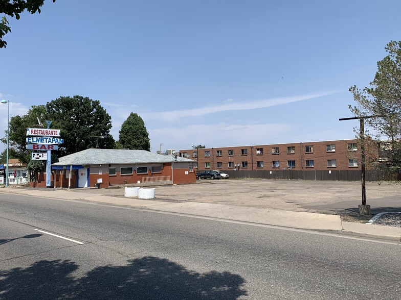
POLYGON ((387 164, 384 170, 401 176, 401 41, 390 41, 385 47, 388 55, 377 62, 377 72, 370 87, 351 87, 358 106, 350 110, 355 116, 372 116, 366 123, 385 137, 387 164))

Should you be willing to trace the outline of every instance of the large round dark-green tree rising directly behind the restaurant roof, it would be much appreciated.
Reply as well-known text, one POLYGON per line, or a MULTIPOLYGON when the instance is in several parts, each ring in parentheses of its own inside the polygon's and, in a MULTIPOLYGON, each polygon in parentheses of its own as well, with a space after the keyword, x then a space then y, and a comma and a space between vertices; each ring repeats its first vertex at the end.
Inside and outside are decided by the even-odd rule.
POLYGON ((60 129, 64 143, 59 145, 59 156, 88 148, 113 149, 115 140, 110 135, 110 115, 97 100, 79 95, 59 97, 46 104, 52 128, 60 129))

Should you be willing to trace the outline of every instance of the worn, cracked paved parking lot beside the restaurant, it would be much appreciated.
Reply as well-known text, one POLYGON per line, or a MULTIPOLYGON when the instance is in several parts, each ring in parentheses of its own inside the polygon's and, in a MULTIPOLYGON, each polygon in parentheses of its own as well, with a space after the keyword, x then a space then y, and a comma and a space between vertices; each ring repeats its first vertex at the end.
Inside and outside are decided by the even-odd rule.
MULTIPOLYGON (((320 213, 354 213, 362 204, 360 182, 300 180, 199 180, 196 184, 155 187, 155 201, 201 202, 320 213)), ((123 197, 122 186, 73 189, 123 197)), ((371 212, 401 211, 401 185, 366 183, 371 212)))

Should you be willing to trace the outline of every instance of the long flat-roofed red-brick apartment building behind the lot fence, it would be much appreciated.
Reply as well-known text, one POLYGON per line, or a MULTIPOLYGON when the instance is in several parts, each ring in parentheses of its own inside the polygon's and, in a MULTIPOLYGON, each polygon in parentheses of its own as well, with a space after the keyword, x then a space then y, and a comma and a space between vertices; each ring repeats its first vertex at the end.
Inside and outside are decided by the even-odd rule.
POLYGON ((184 149, 180 156, 195 160, 199 170, 360 170, 360 151, 351 139, 184 149))

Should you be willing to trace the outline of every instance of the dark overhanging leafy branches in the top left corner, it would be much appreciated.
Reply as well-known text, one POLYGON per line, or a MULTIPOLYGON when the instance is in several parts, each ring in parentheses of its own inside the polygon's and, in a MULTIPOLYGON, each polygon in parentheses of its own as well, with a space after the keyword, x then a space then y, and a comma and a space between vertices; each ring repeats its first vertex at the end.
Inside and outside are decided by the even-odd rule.
MULTIPOLYGON (((53 0, 53 2, 56 2, 56 0, 53 0)), ((4 13, 10 17, 15 16, 19 20, 19 14, 25 10, 31 14, 40 13, 40 7, 43 3, 44 0, 0 0, 0 13, 4 13)), ((7 47, 7 42, 3 40, 3 37, 10 31, 11 28, 8 26, 6 17, 3 17, 0 23, 0 48, 7 47)))

